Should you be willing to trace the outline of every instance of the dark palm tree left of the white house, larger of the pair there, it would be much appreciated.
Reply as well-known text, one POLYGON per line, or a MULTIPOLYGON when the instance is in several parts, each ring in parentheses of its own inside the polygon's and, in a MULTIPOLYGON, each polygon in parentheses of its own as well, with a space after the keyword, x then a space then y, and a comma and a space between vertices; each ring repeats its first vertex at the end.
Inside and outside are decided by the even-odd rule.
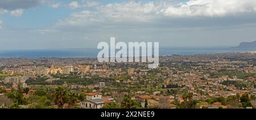
POLYGON ((55 89, 55 100, 57 102, 58 109, 63 109, 66 96, 67 96, 66 90, 61 86, 55 89))

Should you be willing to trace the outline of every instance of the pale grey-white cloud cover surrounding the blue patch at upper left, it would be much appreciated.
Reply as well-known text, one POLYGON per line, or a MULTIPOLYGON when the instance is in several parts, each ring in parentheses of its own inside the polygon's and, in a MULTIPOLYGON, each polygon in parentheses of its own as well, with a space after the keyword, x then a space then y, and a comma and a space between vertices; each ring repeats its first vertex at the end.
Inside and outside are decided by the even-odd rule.
MULTIPOLYGON (((47 30, 1 31, 1 40, 6 40, 0 44, 1 48, 97 47, 98 42, 109 40, 111 36, 123 42, 157 41, 168 47, 198 47, 236 45, 256 37, 253 0, 191 0, 181 3, 176 0, 136 0, 99 5, 89 2, 77 2, 73 8, 79 9, 72 10, 75 13, 58 20, 56 26, 47 27, 47 30), (89 6, 94 7, 86 8, 89 6), (88 38, 92 40, 88 42, 88 38)), ((69 6, 63 2, 60 7, 69 6)))

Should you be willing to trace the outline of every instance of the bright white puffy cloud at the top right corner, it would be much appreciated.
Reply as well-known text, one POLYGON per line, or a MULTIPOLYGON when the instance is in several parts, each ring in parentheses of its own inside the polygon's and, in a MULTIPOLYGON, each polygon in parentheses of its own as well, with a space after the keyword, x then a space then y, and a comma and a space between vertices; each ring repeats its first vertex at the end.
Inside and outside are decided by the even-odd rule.
POLYGON ((166 16, 225 16, 250 13, 256 6, 255 0, 191 0, 179 5, 163 8, 166 16))

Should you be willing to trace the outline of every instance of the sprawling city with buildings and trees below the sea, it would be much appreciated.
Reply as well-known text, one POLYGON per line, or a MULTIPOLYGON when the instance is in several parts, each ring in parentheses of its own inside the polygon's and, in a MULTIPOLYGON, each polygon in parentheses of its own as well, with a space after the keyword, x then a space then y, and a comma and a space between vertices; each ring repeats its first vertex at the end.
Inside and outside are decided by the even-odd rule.
POLYGON ((255 109, 256 53, 0 59, 0 107, 10 109, 255 109))

